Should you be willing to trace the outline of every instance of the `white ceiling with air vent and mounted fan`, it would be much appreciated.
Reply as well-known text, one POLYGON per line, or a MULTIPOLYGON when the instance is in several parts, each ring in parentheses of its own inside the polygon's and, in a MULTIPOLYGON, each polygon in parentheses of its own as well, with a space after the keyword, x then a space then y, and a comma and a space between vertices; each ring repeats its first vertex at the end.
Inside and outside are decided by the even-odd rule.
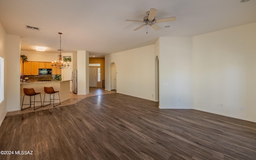
POLYGON ((18 35, 21 50, 59 53, 86 50, 102 57, 154 44, 161 36, 194 36, 256 22, 256 0, 0 0, 0 23, 7 34, 18 35), (126 20, 143 20, 150 8, 161 30, 126 20), (25 26, 40 28, 40 31, 25 26), (169 25, 170 28, 164 28, 169 25), (148 31, 148 34, 146 32, 148 31), (124 49, 127 48, 127 49, 124 49))

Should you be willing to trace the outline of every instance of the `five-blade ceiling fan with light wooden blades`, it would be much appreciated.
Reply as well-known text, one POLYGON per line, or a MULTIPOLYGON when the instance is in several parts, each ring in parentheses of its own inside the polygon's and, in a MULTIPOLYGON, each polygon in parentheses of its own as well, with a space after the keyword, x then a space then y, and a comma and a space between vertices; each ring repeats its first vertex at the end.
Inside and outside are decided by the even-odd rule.
POLYGON ((146 25, 150 25, 152 28, 154 28, 154 30, 160 30, 161 28, 156 25, 156 23, 160 23, 160 22, 171 22, 176 20, 176 17, 168 17, 168 18, 161 18, 161 19, 155 19, 156 16, 156 12, 157 10, 154 8, 151 8, 150 11, 146 12, 146 14, 148 14, 148 16, 145 16, 142 20, 126 20, 126 21, 132 21, 132 22, 142 22, 145 24, 142 24, 141 26, 139 26, 138 28, 135 28, 134 30, 138 30, 146 25))

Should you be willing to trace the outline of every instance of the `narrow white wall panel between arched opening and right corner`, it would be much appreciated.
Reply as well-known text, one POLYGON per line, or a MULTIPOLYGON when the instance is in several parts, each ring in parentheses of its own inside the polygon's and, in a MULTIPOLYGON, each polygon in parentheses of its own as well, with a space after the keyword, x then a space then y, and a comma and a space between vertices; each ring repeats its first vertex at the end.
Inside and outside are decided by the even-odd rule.
POLYGON ((192 37, 160 37, 159 108, 193 108, 192 37))

